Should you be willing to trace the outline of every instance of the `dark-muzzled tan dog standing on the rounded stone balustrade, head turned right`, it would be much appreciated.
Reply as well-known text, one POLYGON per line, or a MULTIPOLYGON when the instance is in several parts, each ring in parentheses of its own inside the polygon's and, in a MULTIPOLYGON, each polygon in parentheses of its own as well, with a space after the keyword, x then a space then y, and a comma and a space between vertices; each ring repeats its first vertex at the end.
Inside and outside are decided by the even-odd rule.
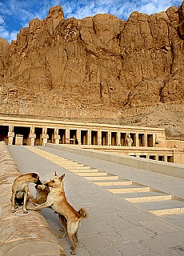
POLYGON ((22 205, 23 203, 23 213, 27 214, 26 210, 26 202, 29 199, 29 183, 34 182, 37 184, 42 184, 39 180, 38 174, 30 173, 30 174, 22 174, 15 178, 14 183, 12 185, 12 195, 10 198, 11 201, 11 212, 15 212, 15 204, 22 205))

